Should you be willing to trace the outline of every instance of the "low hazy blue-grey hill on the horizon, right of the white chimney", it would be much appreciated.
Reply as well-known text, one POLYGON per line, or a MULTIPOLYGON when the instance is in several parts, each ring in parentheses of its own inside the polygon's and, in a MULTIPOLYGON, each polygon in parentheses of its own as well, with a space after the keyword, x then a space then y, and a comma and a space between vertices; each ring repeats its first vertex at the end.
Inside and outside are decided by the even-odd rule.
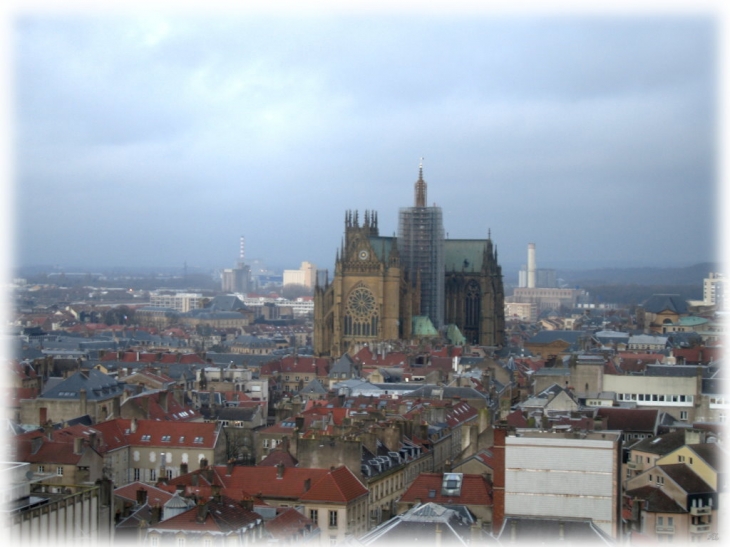
POLYGON ((703 262, 684 268, 599 268, 595 270, 557 270, 558 278, 569 286, 596 285, 697 285, 710 272, 722 271, 720 264, 703 262))

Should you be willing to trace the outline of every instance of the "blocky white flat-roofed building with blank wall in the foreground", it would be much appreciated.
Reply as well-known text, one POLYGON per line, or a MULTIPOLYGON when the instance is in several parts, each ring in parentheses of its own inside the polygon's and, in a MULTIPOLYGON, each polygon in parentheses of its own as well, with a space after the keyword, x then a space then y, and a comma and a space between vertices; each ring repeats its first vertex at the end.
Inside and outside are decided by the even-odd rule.
POLYGON ((505 439, 505 517, 585 518, 618 539, 621 432, 518 429, 505 439))

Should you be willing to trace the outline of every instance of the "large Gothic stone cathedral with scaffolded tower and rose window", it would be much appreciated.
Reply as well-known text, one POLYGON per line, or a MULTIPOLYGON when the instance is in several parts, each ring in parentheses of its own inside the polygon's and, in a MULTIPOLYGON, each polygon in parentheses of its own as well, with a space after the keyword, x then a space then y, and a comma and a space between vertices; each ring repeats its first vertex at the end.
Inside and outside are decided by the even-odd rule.
MULTIPOLYGON (((402 208, 398 237, 378 233, 377 213, 345 214, 334 277, 314 290, 314 352, 339 357, 364 344, 412 340, 415 319, 458 328, 468 344, 504 344, 502 269, 491 238, 444 239, 441 209, 426 206, 423 168, 415 207, 402 208)), ((422 327, 420 327, 422 328, 422 327)))

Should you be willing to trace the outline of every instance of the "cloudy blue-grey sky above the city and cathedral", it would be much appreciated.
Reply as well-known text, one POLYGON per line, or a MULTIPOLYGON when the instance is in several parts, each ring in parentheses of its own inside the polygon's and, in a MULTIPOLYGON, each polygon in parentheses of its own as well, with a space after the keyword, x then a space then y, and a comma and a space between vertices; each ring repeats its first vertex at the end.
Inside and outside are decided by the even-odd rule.
POLYGON ((332 268, 428 201, 500 262, 715 258, 711 17, 28 14, 15 263, 332 268))

